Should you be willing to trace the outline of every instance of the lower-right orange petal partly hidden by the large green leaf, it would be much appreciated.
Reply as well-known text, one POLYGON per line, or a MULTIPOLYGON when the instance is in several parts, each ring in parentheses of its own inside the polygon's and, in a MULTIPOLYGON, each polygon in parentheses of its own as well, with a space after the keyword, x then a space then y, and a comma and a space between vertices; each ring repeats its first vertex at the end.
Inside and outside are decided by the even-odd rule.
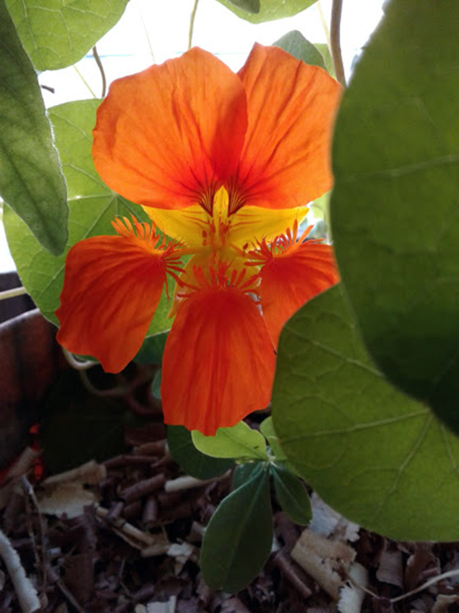
POLYGON ((275 348, 287 319, 340 280, 332 247, 315 241, 297 243, 293 249, 274 255, 260 276, 263 317, 275 348))

